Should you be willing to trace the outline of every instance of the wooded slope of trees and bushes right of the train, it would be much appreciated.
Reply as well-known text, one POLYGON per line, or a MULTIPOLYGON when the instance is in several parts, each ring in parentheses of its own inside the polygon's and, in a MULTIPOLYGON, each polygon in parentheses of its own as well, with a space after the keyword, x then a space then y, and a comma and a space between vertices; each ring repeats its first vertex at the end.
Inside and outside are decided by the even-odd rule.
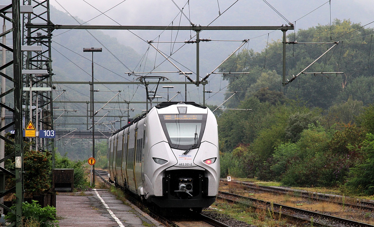
MULTIPOLYGON (((329 25, 287 36, 298 42, 339 41, 306 72, 344 74, 301 74, 281 87, 281 41, 272 41, 260 53, 242 50, 223 65, 222 72, 253 73, 224 77, 229 91, 239 91, 227 108, 252 111, 218 113, 222 176, 340 186, 373 195, 374 59, 369 53, 374 31, 361 26, 335 19, 331 41, 329 25)), ((332 45, 287 46, 288 78, 332 45)))

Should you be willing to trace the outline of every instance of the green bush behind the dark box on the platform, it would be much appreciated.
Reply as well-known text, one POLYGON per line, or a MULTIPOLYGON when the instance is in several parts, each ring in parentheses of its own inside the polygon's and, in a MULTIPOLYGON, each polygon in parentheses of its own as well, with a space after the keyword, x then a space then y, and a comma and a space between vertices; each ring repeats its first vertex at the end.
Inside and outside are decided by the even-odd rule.
POLYGON ((86 189, 86 187, 89 186, 88 182, 86 181, 85 167, 83 166, 85 162, 71 161, 66 154, 61 156, 59 153, 56 153, 55 160, 56 169, 74 169, 75 189, 86 189))

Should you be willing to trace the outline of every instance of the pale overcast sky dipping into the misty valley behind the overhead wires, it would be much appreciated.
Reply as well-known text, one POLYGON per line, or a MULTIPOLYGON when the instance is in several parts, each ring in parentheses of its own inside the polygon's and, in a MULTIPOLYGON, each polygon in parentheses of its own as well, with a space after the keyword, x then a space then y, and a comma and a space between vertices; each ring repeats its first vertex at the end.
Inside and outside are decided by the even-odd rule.
MULTIPOLYGON (((352 22, 362 25, 374 21, 374 0, 331 0, 331 7, 328 0, 267 0, 267 2, 289 22, 296 21, 296 30, 307 29, 318 24, 327 25, 330 23, 330 18, 332 21, 335 18, 350 19, 352 22)), ((62 12, 71 13, 84 22, 88 21, 90 25, 171 25, 172 23, 173 26, 188 26, 190 21, 202 26, 211 22, 211 25, 226 26, 281 26, 288 23, 263 0, 50 0, 50 4, 62 12), (181 16, 180 9, 182 8, 184 15, 181 16), (107 16, 102 15, 99 10, 105 12, 107 16), (219 11, 221 15, 219 15, 219 11)), ((53 20, 53 15, 51 15, 51 21, 58 24, 53 20)), ((368 27, 374 27, 374 23, 368 27)), ((64 31, 55 30, 53 35, 56 36, 61 32, 64 31)), ((190 31, 133 31, 139 38, 126 30, 104 30, 103 32, 116 37, 119 43, 132 47, 140 56, 147 53, 147 40, 185 41, 196 34, 190 31)), ((282 38, 281 31, 202 31, 200 38, 213 40, 250 39, 245 47, 261 51, 266 47, 268 32, 270 32, 269 41, 282 38)), ((291 32, 288 31, 287 34, 291 32)), ((70 35, 71 33, 66 32, 61 37, 69 38, 70 35)), ((329 37, 326 37, 326 40, 329 40, 329 37)), ((308 40, 298 41, 306 42, 308 40)), ((160 43, 159 49, 169 54, 175 52, 183 44, 160 43)), ((201 43, 200 76, 211 72, 239 45, 240 42, 201 43)), ((173 54, 173 58, 181 63, 179 66, 183 71, 196 69, 195 51, 196 44, 188 44, 173 54)), ((148 59, 156 62, 156 51, 152 47, 150 47, 147 56, 148 59)), ((160 56, 157 57, 160 61, 160 56)), ((165 62, 159 70, 174 71, 175 68, 165 62)), ((210 79, 212 81, 209 81, 209 84, 218 84, 219 87, 209 87, 209 90, 221 88, 221 83, 226 84, 226 82, 220 81, 220 77, 211 77, 210 79)))

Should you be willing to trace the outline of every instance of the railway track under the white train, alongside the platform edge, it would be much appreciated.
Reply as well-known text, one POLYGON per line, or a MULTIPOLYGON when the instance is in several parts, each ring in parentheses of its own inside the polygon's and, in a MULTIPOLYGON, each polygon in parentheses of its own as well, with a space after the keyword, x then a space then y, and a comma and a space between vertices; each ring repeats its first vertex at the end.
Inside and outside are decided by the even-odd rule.
MULTIPOLYGON (((109 183, 109 181, 105 180, 104 177, 102 177, 102 175, 104 176, 108 175, 107 171, 95 170, 95 175, 99 176, 100 179, 104 183, 110 186, 112 185, 111 183, 109 183)), ((131 200, 133 204, 137 204, 137 206, 143 212, 145 212, 145 206, 141 205, 140 201, 137 198, 134 198, 131 195, 129 195, 128 199, 131 200)), ((164 217, 160 215, 159 213, 148 208, 147 213, 151 217, 153 217, 155 220, 161 221, 162 223, 166 224, 166 226, 171 226, 171 227, 193 227, 193 226, 196 226, 196 227, 230 227, 230 226, 227 226, 226 224, 220 223, 219 221, 209 218, 205 215, 197 214, 196 212, 193 212, 190 210, 186 212, 188 213, 187 215, 186 214, 178 215, 178 216, 173 215, 172 217, 164 217)))

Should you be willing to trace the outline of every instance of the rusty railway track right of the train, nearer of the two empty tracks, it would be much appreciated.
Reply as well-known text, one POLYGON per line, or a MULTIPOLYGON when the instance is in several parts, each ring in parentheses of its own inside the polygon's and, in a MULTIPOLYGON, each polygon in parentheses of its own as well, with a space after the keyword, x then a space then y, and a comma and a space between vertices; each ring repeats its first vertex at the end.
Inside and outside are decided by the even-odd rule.
POLYGON ((352 221, 345 218, 339 218, 331 215, 321 214, 318 212, 307 211, 304 209, 295 208, 292 206, 285 206, 278 203, 270 203, 260 199, 249 198, 228 192, 219 192, 218 198, 245 206, 252 206, 256 208, 263 208, 281 214, 283 217, 293 218, 302 222, 309 222, 313 220, 314 226, 329 226, 329 227, 374 227, 373 225, 352 221))

